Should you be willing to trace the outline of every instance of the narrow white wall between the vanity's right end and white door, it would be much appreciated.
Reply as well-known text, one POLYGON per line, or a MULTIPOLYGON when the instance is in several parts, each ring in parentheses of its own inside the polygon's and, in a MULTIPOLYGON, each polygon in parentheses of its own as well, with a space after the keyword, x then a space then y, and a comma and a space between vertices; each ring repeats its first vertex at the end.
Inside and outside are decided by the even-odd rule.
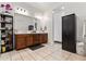
POLYGON ((44 13, 45 16, 47 16, 47 21, 45 22, 45 25, 47 26, 47 31, 48 31, 48 41, 50 43, 53 43, 53 37, 52 37, 52 11, 48 11, 44 13))

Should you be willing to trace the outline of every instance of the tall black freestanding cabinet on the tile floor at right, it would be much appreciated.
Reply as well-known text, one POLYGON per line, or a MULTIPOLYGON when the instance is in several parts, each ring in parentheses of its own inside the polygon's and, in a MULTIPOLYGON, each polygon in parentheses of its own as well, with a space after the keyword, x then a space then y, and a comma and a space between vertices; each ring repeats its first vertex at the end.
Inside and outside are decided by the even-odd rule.
POLYGON ((62 23, 62 47, 64 50, 76 53, 75 14, 63 16, 62 23))

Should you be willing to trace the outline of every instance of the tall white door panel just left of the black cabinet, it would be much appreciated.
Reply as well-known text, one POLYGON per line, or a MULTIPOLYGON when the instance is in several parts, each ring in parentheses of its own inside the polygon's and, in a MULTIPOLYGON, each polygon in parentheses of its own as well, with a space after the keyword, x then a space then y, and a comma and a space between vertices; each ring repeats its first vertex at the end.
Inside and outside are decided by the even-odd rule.
POLYGON ((62 42, 61 12, 53 14, 53 40, 62 42))

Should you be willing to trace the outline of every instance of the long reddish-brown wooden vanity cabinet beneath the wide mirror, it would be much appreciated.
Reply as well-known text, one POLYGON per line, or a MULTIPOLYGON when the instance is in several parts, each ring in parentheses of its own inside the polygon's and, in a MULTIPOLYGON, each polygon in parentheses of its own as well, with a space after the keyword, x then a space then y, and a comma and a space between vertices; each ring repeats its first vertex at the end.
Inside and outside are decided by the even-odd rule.
POLYGON ((16 50, 27 48, 29 46, 35 46, 38 43, 47 43, 47 42, 48 42, 47 33, 15 34, 15 49, 16 50))

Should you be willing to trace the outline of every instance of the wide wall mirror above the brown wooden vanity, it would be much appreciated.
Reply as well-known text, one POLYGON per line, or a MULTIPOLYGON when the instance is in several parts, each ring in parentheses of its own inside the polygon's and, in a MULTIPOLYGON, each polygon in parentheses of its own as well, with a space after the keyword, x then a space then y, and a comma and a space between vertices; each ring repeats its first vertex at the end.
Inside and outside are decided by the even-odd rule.
POLYGON ((40 30, 40 21, 21 14, 14 14, 14 29, 21 31, 40 30))

